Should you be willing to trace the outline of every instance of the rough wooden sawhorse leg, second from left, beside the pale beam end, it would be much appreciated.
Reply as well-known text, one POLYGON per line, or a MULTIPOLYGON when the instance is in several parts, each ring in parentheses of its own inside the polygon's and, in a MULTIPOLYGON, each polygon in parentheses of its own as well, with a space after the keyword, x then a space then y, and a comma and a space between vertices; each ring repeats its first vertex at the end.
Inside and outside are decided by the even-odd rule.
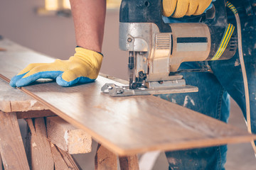
POLYGON ((31 169, 53 169, 53 157, 51 154, 50 143, 46 136, 46 124, 43 118, 26 119, 30 129, 31 137, 28 137, 26 144, 27 155, 30 159, 31 169))

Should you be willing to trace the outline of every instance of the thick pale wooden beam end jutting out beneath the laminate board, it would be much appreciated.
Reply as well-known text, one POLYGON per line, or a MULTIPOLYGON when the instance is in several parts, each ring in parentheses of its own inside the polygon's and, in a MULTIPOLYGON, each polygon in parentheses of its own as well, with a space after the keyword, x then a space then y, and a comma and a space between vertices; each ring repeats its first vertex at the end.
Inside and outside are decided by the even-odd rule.
POLYGON ((46 119, 50 142, 69 154, 85 154, 92 151, 92 137, 85 130, 75 128, 60 117, 46 119))

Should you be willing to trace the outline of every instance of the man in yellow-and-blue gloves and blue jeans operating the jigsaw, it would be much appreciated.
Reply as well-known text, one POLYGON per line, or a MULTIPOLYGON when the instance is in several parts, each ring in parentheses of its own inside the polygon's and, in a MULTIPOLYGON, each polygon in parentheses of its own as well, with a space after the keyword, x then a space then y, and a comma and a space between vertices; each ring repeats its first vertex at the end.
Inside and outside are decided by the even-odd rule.
MULTIPOLYGON (((211 0, 162 0, 164 16, 181 18, 185 15, 201 15, 210 6, 211 0)), ((218 1, 218 0, 217 0, 218 1)), ((256 31, 252 22, 254 14, 246 13, 245 1, 230 0, 242 14, 242 38, 245 66, 249 81, 252 132, 256 132, 256 31)), ((11 86, 26 86, 40 78, 56 79, 60 86, 73 86, 92 82, 97 78, 103 55, 102 38, 105 25, 105 0, 70 0, 75 23, 78 47, 69 60, 55 60, 50 64, 30 64, 11 79, 11 86)), ((250 4, 251 5, 251 4, 250 4)), ((229 15, 230 17, 233 14, 229 15)), ((233 18, 230 22, 235 25, 233 18)), ((238 53, 238 52, 237 52, 238 53)), ((180 69, 205 69, 210 72, 183 73, 188 84, 198 86, 198 93, 163 94, 168 101, 191 108, 205 115, 228 122, 229 95, 245 115, 245 93, 238 54, 230 60, 213 62, 184 62, 180 69)), ((168 134, 166 134, 168 135, 168 134)), ((219 169, 223 170, 227 146, 187 149, 166 152, 169 169, 219 169)))

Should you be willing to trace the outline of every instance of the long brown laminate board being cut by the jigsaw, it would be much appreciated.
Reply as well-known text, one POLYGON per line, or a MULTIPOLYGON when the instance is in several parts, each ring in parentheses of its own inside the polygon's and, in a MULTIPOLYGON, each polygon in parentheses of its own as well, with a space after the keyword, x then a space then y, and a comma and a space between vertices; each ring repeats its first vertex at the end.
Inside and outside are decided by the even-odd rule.
MULTIPOLYGON (((33 61, 43 61, 42 56, 35 52, 9 54, 6 48, 6 52, 0 53, 0 72, 6 77, 11 78, 25 67, 23 63, 29 57, 33 61), (9 67, 1 66, 2 63, 9 64, 9 67)), ((119 155, 209 147, 255 139, 255 135, 161 98, 112 98, 100 92, 105 83, 115 82, 98 77, 95 83, 70 88, 50 82, 26 86, 22 90, 119 155)))

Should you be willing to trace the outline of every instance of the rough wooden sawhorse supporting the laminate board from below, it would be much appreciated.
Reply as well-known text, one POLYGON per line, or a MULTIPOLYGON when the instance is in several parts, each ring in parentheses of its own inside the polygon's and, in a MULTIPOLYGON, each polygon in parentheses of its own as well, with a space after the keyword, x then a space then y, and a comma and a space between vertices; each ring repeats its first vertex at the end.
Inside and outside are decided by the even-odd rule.
MULTIPOLYGON (((80 169, 70 153, 90 152, 91 137, 84 130, 74 128, 47 110, 35 99, 11 88, 3 79, 0 79, 0 86, 0 152, 4 169, 80 169), (25 119, 28 123, 26 149, 18 119, 25 119), (73 139, 70 139, 69 145, 61 139, 67 135, 64 131, 73 133, 70 135, 73 139), (75 135, 83 142, 73 144, 75 135)), ((122 170, 139 169, 137 156, 120 157, 119 162, 122 170)), ((117 169, 117 154, 99 144, 95 155, 95 169, 117 169)))

